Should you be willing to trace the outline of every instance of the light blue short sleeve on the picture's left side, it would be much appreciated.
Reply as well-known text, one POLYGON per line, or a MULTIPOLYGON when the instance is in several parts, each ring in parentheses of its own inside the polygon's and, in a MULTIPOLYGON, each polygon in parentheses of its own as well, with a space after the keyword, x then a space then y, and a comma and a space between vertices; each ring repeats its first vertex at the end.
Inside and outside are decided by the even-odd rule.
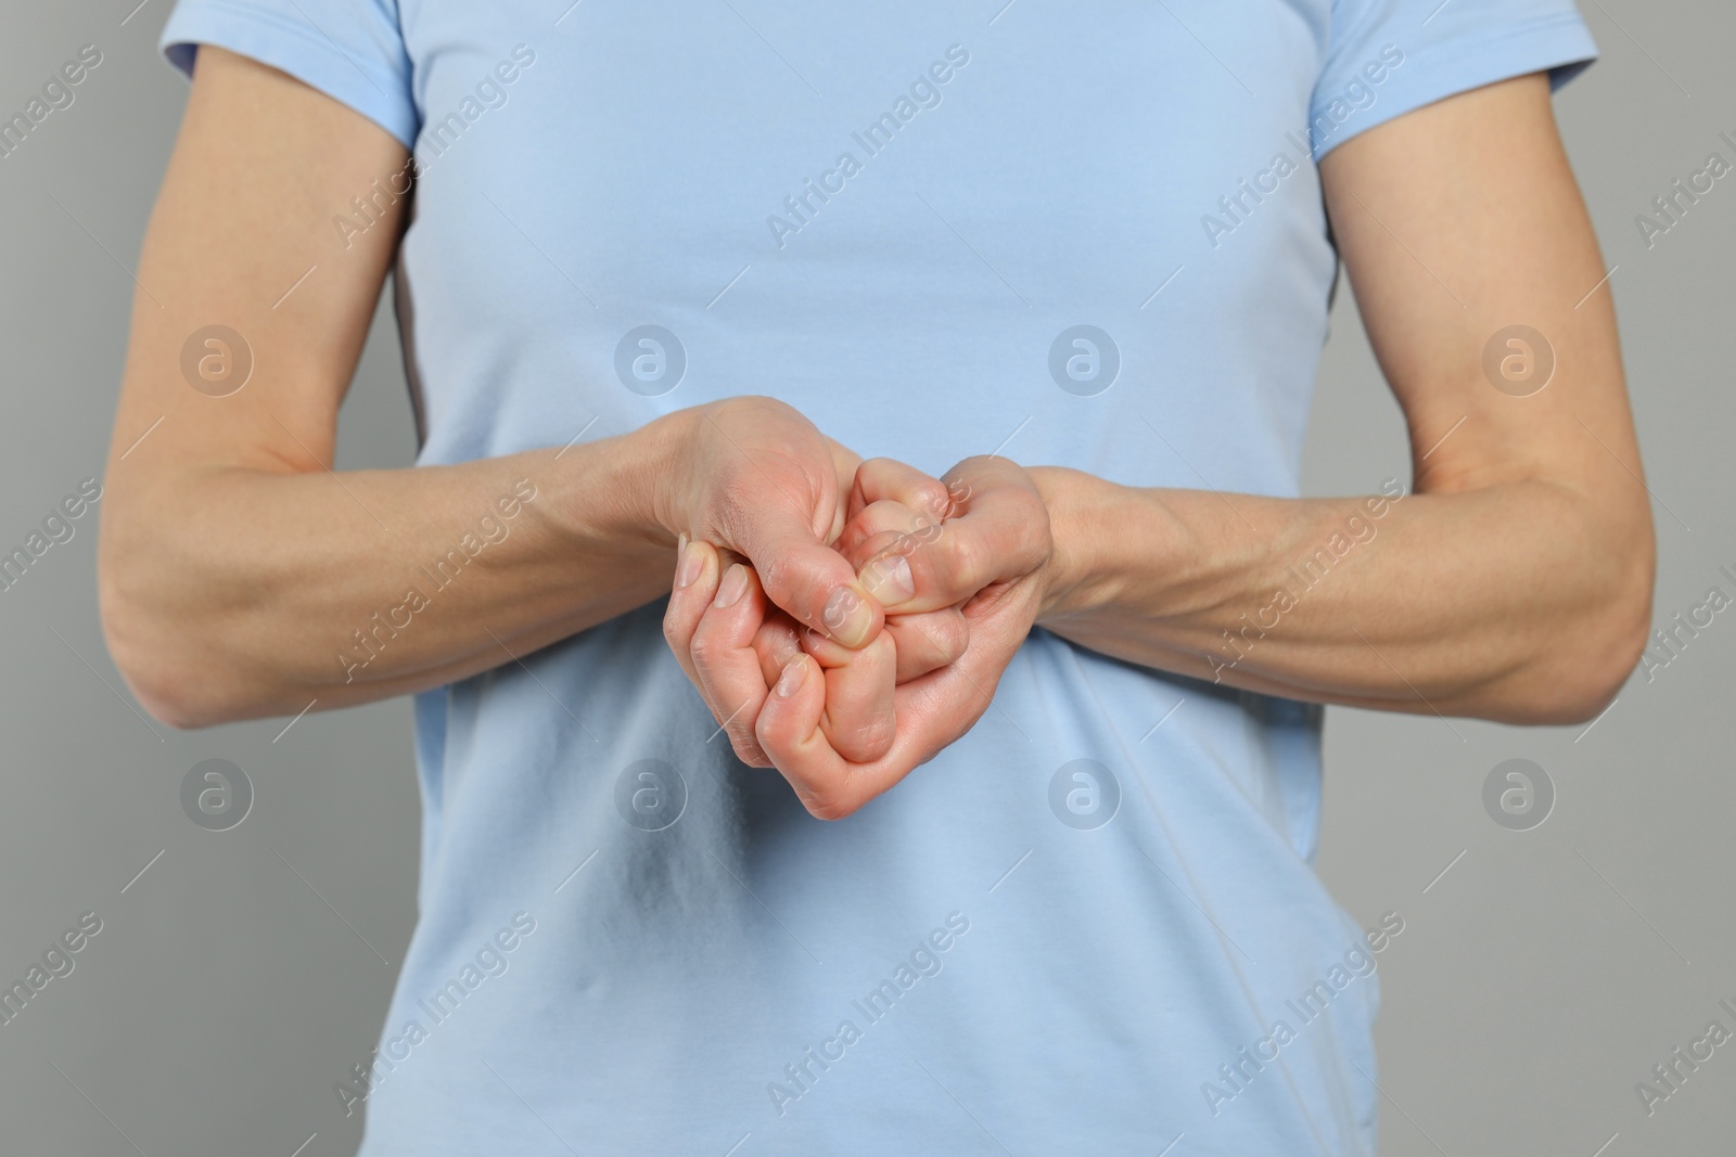
POLYGON ((281 69, 413 147, 420 116, 396 0, 181 0, 163 54, 191 76, 201 43, 281 69))

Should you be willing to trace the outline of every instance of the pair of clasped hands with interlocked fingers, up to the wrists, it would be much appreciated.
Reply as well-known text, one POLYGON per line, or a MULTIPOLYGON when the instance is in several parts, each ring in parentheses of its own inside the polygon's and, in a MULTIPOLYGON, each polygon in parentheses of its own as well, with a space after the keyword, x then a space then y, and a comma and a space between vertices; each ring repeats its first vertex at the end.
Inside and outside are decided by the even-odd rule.
POLYGON ((663 635, 745 763, 840 819, 970 730, 1043 605, 1031 475, 861 461, 760 397, 700 408, 681 461, 663 635))

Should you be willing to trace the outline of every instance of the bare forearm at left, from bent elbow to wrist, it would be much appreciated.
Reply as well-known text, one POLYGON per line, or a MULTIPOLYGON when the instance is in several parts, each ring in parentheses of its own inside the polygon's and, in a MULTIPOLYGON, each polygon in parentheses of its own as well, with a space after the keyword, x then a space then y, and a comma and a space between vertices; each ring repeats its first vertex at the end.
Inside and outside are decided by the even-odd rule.
POLYGON ((115 659, 181 725, 512 663, 668 588, 668 427, 415 470, 116 461, 99 562, 115 659))

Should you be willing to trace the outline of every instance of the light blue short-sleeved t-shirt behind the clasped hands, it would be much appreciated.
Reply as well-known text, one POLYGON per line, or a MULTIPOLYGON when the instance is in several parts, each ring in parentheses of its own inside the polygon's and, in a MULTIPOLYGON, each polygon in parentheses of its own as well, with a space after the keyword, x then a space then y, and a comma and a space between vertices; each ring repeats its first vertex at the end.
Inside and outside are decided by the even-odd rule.
MULTIPOLYGON (((1571 0, 182 0, 163 43, 413 146, 422 463, 771 394, 934 474, 1276 496, 1318 156, 1595 52, 1571 0)), ((453 510, 406 583, 437 607, 535 493, 453 510)), ((1038 630, 828 824, 713 737, 660 618, 417 697, 420 923, 372 1074, 333 1074, 366 1157, 1373 1150, 1403 912, 1314 876, 1318 708, 1038 630)))

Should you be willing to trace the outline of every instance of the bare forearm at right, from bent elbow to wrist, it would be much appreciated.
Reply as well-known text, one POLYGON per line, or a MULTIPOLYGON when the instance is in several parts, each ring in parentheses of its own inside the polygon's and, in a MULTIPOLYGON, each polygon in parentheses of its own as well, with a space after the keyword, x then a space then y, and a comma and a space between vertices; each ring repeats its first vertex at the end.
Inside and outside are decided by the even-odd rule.
POLYGON ((1132 663, 1316 703, 1568 722, 1644 642, 1630 496, 1512 480, 1274 500, 1038 470, 1061 579, 1040 624, 1132 663))

